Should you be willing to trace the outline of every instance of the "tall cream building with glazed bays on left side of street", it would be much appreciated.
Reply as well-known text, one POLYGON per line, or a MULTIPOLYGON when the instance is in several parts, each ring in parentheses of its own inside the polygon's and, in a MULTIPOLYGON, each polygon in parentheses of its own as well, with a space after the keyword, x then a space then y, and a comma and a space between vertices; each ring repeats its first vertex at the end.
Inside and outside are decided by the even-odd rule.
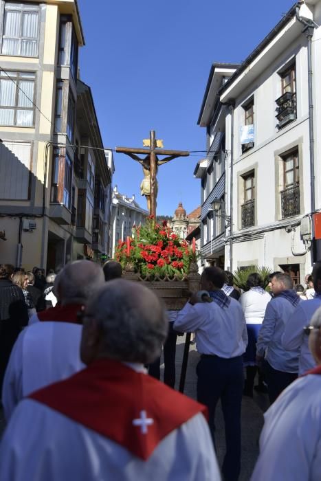
POLYGON ((59 269, 95 258, 107 249, 100 185, 111 183, 111 169, 97 150, 90 89, 77 78, 84 45, 77 1, 1 0, 0 29, 0 214, 8 239, 0 262, 59 269))

